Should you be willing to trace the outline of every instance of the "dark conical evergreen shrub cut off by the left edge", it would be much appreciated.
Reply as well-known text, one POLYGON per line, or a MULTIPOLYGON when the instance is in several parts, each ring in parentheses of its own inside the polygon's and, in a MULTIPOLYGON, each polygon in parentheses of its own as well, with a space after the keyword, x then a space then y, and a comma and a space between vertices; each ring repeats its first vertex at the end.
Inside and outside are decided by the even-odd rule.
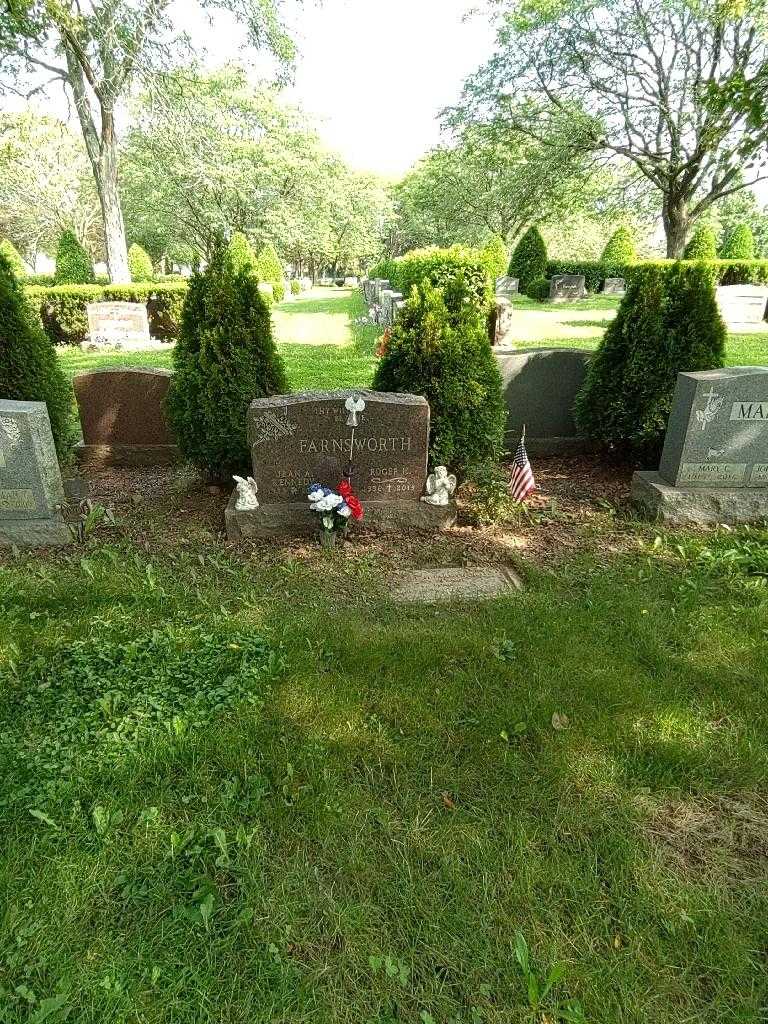
POLYGON ((0 398, 44 401, 56 451, 70 439, 72 389, 53 346, 27 303, 8 260, 0 254, 0 398))

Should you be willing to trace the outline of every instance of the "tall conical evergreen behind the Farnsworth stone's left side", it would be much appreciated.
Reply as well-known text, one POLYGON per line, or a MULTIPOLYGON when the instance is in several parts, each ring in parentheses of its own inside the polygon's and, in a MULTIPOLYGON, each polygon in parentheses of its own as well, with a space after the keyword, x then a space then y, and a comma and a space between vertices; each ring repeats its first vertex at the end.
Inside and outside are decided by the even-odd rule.
POLYGON ((288 390, 256 275, 218 244, 189 284, 168 415, 182 454, 208 476, 247 471, 248 407, 288 390))

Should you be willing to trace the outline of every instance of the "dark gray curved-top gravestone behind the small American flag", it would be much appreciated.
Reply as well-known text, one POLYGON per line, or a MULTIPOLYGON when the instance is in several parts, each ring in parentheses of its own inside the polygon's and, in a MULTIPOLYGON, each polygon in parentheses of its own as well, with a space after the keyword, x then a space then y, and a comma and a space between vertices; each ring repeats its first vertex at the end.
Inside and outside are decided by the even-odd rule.
POLYGON ((538 348, 499 352, 507 403, 508 449, 523 427, 531 455, 556 455, 585 446, 573 421, 573 402, 594 353, 578 348, 538 348))

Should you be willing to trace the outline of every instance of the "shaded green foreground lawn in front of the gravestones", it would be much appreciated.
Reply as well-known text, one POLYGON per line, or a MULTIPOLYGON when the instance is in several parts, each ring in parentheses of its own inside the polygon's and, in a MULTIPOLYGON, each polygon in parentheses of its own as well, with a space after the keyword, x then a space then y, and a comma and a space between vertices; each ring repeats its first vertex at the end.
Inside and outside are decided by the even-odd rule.
POLYGON ((0 1019, 759 1019, 768 531, 597 510, 524 593, 403 608, 514 526, 249 555, 223 500, 0 558, 0 1019))

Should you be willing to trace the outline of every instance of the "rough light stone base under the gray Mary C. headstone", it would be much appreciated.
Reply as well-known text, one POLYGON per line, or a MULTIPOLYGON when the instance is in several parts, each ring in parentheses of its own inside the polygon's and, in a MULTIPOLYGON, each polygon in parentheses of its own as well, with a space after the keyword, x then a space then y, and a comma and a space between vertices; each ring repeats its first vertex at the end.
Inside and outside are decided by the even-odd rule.
POLYGON ((632 503, 670 526, 706 526, 768 520, 768 487, 673 487, 658 473, 632 477, 632 503))

